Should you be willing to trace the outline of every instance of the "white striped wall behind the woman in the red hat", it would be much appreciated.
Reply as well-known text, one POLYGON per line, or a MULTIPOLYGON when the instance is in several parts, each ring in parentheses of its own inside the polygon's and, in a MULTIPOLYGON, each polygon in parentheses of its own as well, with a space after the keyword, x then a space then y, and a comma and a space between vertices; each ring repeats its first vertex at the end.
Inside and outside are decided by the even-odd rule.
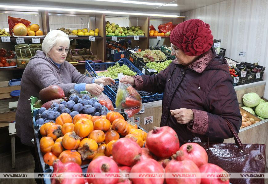
MULTIPOLYGON (((215 39, 221 39, 225 56, 265 66, 268 81, 268 0, 226 0, 181 14, 209 23, 215 39), (238 56, 239 52, 246 56, 238 56)), ((264 97, 268 98, 268 84, 264 97)))

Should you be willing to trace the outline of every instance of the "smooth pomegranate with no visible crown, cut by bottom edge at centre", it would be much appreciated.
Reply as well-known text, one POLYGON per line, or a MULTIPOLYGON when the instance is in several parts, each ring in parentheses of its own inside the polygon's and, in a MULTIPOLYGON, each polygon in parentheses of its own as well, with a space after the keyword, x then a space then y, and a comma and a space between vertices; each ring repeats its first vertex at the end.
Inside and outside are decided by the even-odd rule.
POLYGON ((164 170, 161 165, 154 159, 148 158, 146 160, 139 161, 136 165, 131 168, 131 173, 163 173, 160 177, 162 178, 137 178, 133 176, 131 179, 135 184, 162 184, 164 182, 164 170))

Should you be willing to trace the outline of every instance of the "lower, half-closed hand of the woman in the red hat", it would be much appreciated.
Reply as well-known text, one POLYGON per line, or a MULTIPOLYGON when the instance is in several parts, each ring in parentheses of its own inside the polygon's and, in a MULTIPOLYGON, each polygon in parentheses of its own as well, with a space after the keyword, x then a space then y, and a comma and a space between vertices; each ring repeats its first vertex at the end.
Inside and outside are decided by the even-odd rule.
POLYGON ((177 120, 177 123, 187 124, 193 121, 193 111, 191 109, 175 109, 170 110, 171 115, 177 120))

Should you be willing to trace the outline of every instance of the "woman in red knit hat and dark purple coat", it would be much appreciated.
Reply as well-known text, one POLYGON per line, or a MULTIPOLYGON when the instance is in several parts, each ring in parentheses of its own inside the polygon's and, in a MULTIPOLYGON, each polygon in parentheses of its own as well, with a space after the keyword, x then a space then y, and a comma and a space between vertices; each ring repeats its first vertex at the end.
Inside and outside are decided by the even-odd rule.
POLYGON ((166 69, 152 76, 125 76, 121 82, 164 92, 160 126, 173 128, 180 144, 194 137, 202 142, 207 137, 210 142, 231 138, 225 120, 238 133, 242 117, 228 64, 215 53, 209 24, 200 19, 182 22, 171 32, 170 42, 176 58, 166 69))

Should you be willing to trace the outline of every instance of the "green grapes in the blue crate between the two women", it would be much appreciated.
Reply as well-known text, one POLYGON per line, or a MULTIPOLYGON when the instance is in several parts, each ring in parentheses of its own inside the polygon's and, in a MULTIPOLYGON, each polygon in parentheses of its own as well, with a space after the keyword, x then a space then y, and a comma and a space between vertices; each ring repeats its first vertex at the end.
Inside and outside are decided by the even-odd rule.
POLYGON ((108 71, 99 72, 99 76, 105 76, 105 77, 112 77, 113 79, 118 78, 119 73, 123 73, 124 75, 133 76, 136 75, 136 72, 133 72, 131 69, 128 68, 127 65, 120 66, 119 63, 116 63, 114 66, 110 66, 108 71))

